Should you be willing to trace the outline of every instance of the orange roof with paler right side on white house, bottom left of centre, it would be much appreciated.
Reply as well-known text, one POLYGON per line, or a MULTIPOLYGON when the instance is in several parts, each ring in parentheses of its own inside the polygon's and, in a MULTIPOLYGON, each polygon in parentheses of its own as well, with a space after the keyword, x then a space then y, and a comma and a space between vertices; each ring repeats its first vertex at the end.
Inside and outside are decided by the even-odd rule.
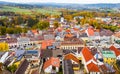
POLYGON ((60 67, 60 59, 59 58, 51 57, 49 60, 47 60, 44 63, 43 69, 46 69, 50 65, 55 66, 55 67, 60 67))

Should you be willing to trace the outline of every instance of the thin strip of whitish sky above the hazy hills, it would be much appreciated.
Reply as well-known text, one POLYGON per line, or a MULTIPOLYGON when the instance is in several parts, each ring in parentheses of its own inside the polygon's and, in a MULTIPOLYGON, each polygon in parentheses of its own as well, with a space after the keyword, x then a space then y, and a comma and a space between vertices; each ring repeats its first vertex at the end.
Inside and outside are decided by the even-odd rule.
POLYGON ((28 2, 54 2, 54 3, 78 3, 78 4, 94 4, 94 3, 120 3, 120 0, 0 0, 16 3, 28 3, 28 2))

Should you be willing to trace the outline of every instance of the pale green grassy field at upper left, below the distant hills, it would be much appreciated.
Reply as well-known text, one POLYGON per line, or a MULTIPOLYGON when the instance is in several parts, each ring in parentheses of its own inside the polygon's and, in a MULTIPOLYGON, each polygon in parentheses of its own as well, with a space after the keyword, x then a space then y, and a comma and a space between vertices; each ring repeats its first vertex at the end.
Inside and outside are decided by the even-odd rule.
POLYGON ((0 8, 0 11, 11 11, 20 14, 35 14, 35 13, 52 14, 52 15, 60 14, 59 11, 52 9, 45 9, 45 8, 23 9, 19 7, 11 7, 11 6, 2 6, 0 8))

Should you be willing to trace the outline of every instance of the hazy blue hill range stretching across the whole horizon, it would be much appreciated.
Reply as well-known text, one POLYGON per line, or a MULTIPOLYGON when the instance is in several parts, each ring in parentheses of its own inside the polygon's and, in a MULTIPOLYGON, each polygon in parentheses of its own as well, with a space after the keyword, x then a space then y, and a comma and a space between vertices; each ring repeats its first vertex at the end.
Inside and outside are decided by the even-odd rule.
POLYGON ((92 9, 92 8, 120 8, 120 3, 116 4, 69 4, 69 3, 12 3, 0 1, 0 6, 26 6, 26 7, 58 7, 58 8, 70 8, 70 9, 92 9))

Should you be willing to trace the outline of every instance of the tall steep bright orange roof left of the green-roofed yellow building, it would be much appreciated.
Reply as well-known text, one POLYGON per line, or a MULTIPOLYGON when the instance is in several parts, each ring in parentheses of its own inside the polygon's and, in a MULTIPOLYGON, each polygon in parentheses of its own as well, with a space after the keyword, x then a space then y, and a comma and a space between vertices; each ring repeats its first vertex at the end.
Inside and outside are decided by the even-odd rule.
POLYGON ((93 59, 94 61, 96 61, 95 58, 94 58, 94 56, 92 55, 92 53, 90 52, 90 50, 87 47, 84 47, 82 49, 82 54, 83 54, 83 57, 85 59, 85 62, 88 62, 91 59, 93 59))

